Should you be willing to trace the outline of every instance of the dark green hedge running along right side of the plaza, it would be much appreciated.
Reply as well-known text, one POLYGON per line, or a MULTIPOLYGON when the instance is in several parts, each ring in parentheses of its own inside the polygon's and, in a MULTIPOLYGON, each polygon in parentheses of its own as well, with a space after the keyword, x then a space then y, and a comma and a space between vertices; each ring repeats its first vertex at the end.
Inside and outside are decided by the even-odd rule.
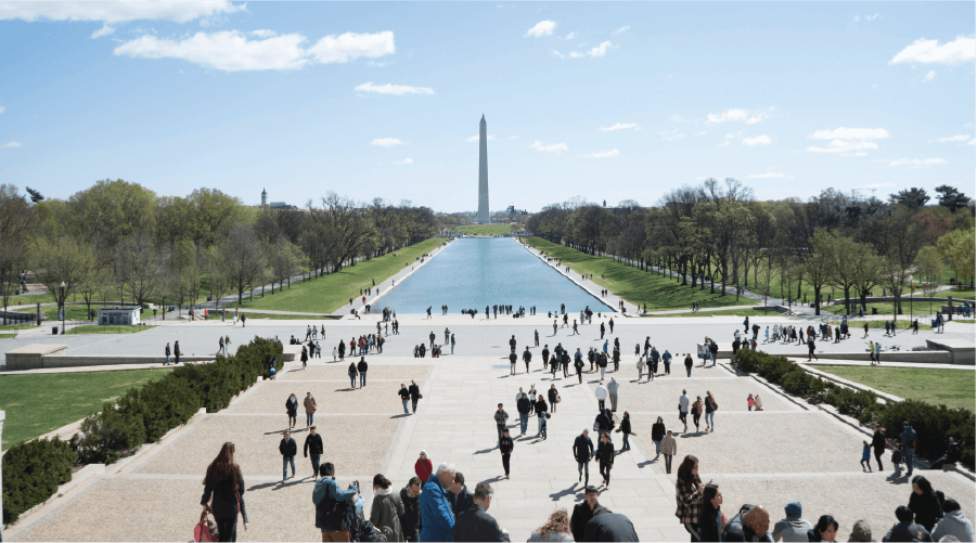
POLYGON ((863 424, 878 423, 886 428, 886 437, 890 439, 900 440, 902 422, 909 421, 917 435, 916 455, 929 461, 939 458, 947 451, 948 438, 952 436, 963 449, 961 463, 975 466, 975 418, 968 410, 914 400, 878 403, 874 392, 839 387, 807 373, 784 357, 760 351, 740 351, 733 366, 744 373, 756 373, 796 397, 834 405, 839 413, 851 415, 863 424))

